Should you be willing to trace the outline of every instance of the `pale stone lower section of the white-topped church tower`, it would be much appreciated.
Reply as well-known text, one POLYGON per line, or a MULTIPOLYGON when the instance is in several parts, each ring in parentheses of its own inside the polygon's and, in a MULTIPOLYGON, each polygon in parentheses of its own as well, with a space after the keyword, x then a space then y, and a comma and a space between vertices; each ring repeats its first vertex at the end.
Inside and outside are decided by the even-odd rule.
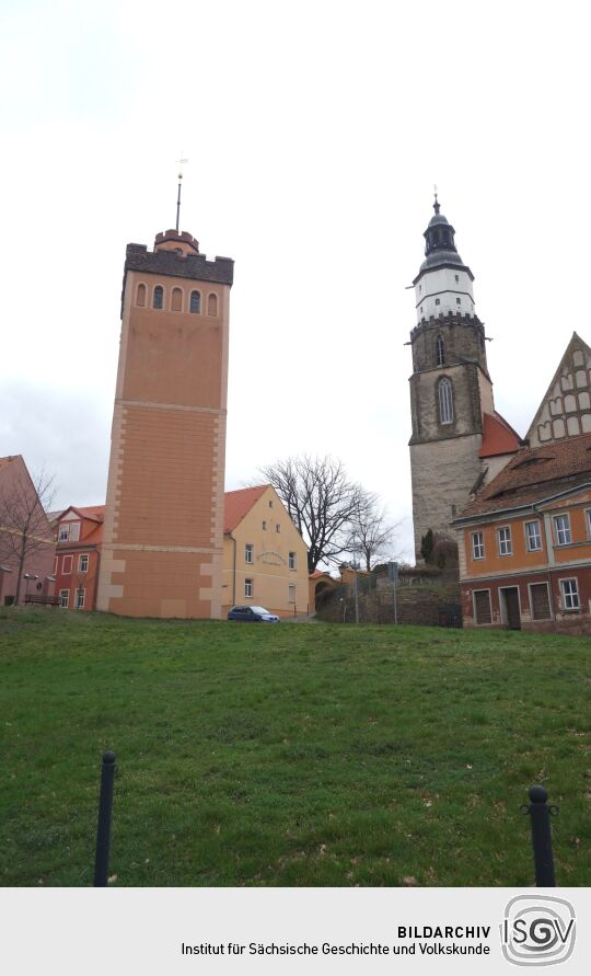
POLYGON ((466 507, 482 474, 482 434, 410 445, 415 552, 428 529, 455 538, 452 518, 466 507))

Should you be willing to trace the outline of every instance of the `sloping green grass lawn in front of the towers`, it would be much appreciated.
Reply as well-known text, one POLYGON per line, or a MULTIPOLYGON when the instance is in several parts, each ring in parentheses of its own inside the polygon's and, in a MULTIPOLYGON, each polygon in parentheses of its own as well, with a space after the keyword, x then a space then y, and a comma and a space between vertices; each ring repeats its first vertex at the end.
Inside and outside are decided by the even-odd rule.
POLYGON ((0 885, 591 884, 590 641, 0 610, 0 885))

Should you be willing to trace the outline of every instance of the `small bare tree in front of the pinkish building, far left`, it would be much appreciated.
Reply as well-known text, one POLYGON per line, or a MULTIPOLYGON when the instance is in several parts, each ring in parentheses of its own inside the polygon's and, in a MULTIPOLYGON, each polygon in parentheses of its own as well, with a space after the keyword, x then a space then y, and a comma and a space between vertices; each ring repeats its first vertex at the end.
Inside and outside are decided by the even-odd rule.
POLYGON ((32 479, 24 462, 0 487, 0 561, 18 567, 15 604, 21 599, 25 562, 55 544, 45 514, 54 494, 53 476, 42 471, 32 479))

